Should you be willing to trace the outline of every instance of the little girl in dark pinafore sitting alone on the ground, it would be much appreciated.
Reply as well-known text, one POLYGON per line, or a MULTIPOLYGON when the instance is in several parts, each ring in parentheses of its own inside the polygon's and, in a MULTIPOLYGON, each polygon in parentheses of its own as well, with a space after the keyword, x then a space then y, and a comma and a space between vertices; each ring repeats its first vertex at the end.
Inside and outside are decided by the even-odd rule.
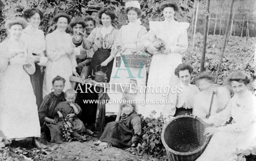
POLYGON ((129 103, 130 101, 133 102, 134 99, 129 96, 124 96, 121 99, 120 108, 124 112, 121 120, 119 122, 109 122, 100 140, 95 145, 107 146, 108 142, 110 142, 117 148, 125 149, 139 141, 139 135, 141 135, 141 118, 137 114, 136 105, 129 103))

